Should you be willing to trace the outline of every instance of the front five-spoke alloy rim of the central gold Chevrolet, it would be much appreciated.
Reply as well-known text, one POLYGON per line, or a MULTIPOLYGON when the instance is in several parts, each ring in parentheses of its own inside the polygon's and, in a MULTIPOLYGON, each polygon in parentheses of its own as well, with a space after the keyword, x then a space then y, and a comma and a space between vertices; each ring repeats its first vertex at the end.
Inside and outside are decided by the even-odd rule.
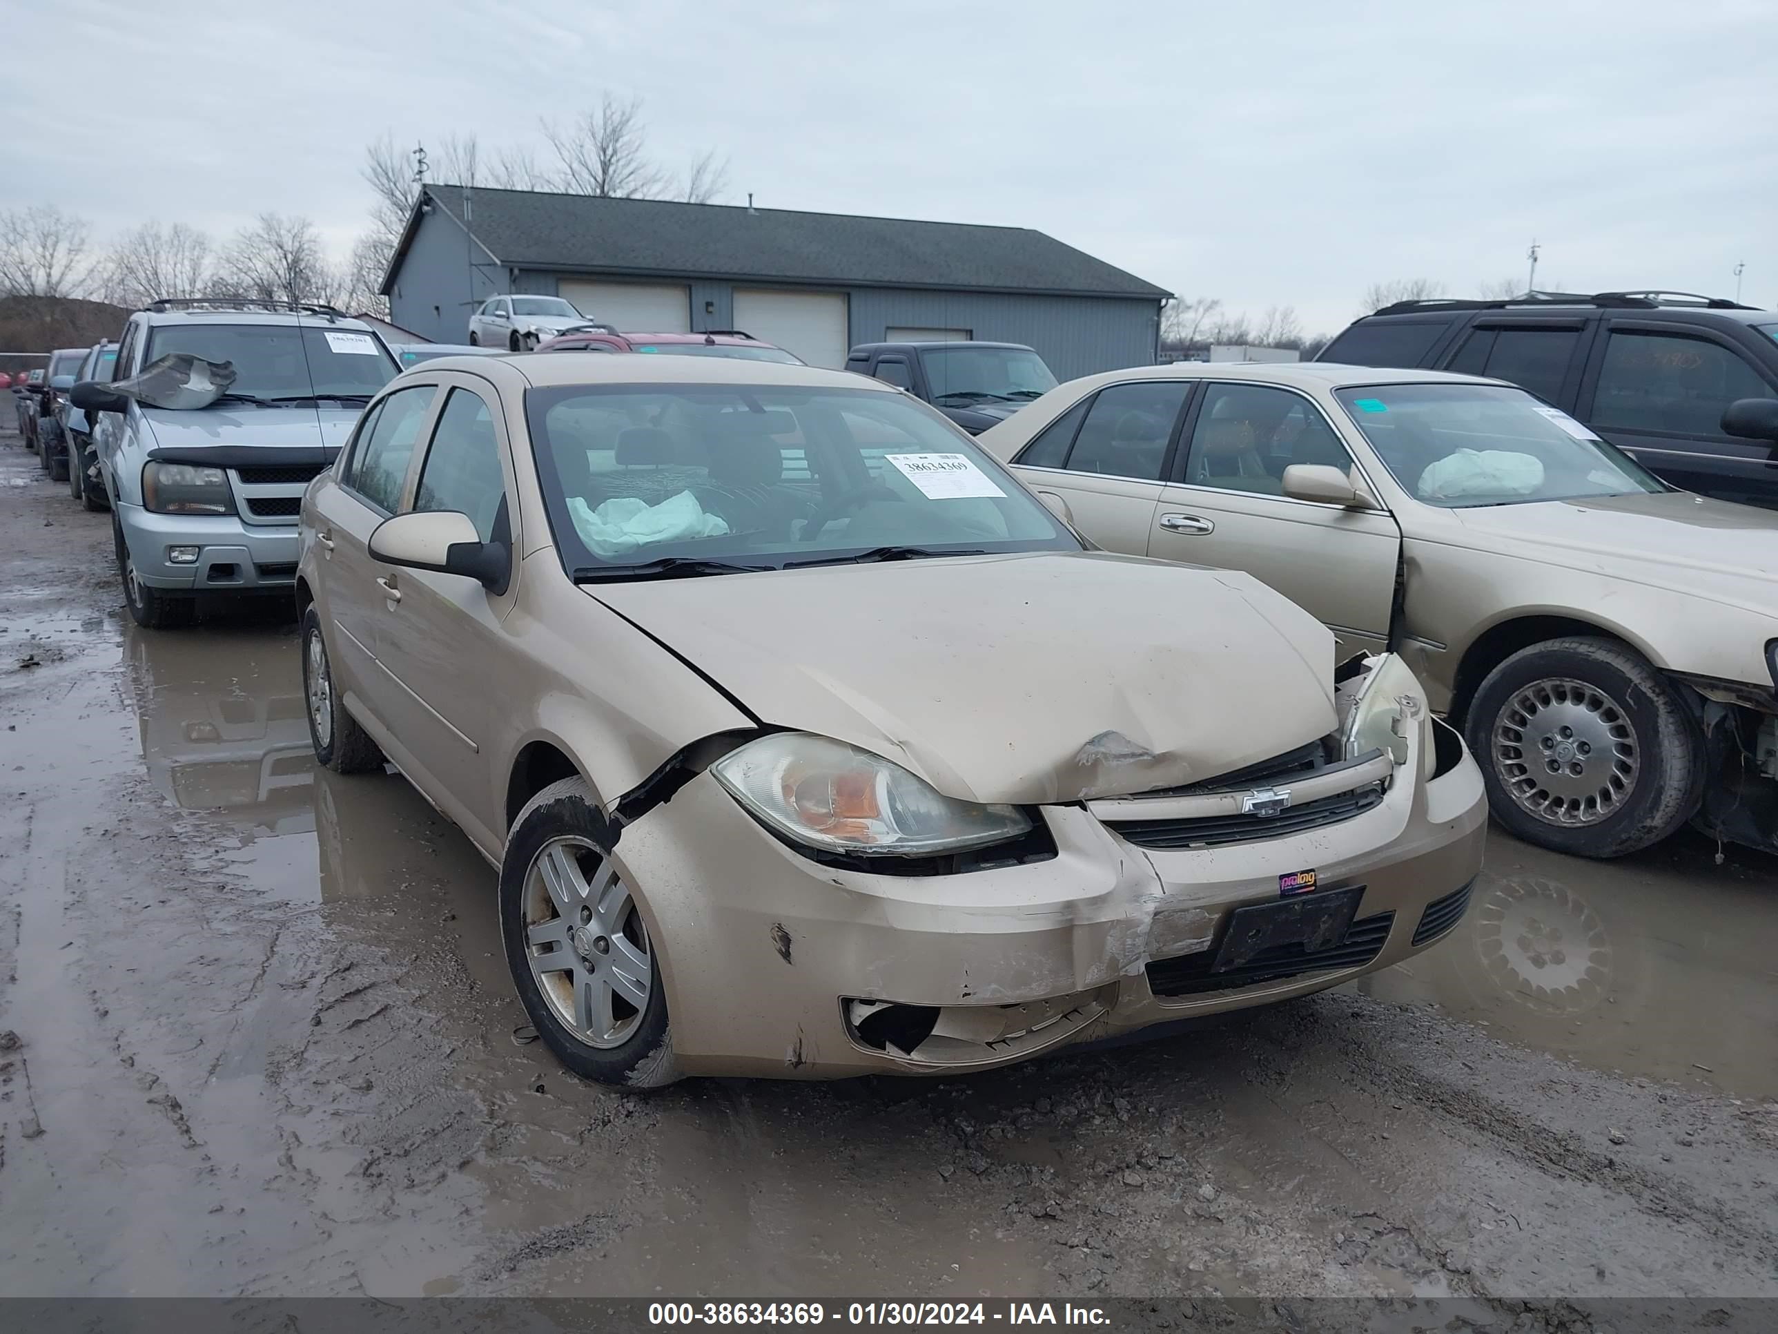
POLYGON ((525 948, 537 989, 581 1042, 617 1048, 649 1007, 654 957, 635 896, 578 836, 551 840, 525 873, 525 948))

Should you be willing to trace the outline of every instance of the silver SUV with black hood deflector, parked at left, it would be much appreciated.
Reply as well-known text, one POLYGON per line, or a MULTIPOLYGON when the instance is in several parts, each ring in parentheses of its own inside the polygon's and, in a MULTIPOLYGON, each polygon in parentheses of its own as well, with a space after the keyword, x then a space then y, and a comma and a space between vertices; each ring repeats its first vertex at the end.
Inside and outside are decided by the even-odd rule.
POLYGON ((156 301, 132 315, 110 381, 73 400, 94 423, 135 623, 187 624, 197 594, 288 594, 302 491, 396 370, 370 325, 329 306, 156 301), (199 407, 121 391, 178 354, 210 363, 224 391, 199 407))

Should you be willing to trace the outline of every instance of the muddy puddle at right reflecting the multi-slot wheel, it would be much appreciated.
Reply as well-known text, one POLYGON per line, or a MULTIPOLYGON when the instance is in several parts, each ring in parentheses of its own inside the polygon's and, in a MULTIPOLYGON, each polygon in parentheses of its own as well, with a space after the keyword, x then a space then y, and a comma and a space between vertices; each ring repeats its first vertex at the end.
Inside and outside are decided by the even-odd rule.
POLYGON ((1495 829, 1463 923, 1357 985, 1595 1069, 1778 1096, 1774 872, 1689 836, 1591 863, 1495 829))

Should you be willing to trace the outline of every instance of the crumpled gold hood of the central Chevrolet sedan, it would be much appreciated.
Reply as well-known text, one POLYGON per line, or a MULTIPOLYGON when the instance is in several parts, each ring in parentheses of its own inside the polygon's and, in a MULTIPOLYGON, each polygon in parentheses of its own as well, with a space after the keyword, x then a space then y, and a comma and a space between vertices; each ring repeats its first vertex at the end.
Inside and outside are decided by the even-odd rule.
POLYGON ((960 799, 1147 792, 1335 726, 1334 637, 1229 571, 1021 553, 587 592, 763 722, 852 742, 960 799))

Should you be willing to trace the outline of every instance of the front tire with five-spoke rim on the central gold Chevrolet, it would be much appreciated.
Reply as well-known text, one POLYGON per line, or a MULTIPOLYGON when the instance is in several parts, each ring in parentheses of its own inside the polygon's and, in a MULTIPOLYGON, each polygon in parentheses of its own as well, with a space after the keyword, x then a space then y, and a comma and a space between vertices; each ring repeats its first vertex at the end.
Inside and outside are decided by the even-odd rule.
POLYGON ((654 1089, 679 1078, 667 989, 606 841, 585 779, 532 797, 500 864, 500 936, 525 1012, 557 1060, 587 1080, 654 1089))

